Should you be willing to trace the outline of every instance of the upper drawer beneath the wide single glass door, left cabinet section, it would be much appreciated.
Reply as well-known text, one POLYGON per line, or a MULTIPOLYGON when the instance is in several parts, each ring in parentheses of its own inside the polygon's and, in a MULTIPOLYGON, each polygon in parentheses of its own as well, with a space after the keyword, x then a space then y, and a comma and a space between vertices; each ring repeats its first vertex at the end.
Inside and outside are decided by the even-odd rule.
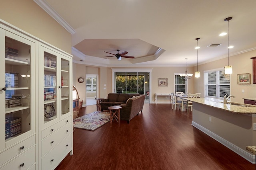
POLYGON ((0 165, 4 164, 8 160, 14 158, 18 154, 25 152, 28 148, 32 147, 36 143, 36 136, 32 136, 17 145, 14 145, 12 148, 2 152, 0 154, 0 165), (23 148, 23 149, 22 149, 23 148))

